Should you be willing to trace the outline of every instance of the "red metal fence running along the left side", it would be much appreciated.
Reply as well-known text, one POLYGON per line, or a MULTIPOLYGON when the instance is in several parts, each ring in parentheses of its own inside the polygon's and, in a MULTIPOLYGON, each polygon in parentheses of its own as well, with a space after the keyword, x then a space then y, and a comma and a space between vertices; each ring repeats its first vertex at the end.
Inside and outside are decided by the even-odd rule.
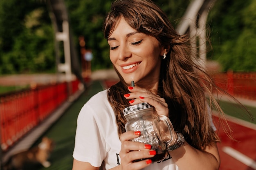
POLYGON ((0 95, 0 144, 7 151, 29 130, 53 113, 71 93, 79 89, 79 80, 0 95))

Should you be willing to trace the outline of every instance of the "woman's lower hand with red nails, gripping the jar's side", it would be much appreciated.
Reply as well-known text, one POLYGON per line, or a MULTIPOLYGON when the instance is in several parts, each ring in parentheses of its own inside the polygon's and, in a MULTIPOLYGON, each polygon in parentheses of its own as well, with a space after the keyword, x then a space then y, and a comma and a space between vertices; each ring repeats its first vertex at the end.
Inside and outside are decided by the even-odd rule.
POLYGON ((149 144, 130 141, 130 139, 139 137, 140 134, 140 131, 128 131, 120 135, 121 170, 140 170, 152 163, 150 158, 156 155, 156 151, 150 150, 151 146, 149 144), (144 160, 136 161, 140 159, 144 160))

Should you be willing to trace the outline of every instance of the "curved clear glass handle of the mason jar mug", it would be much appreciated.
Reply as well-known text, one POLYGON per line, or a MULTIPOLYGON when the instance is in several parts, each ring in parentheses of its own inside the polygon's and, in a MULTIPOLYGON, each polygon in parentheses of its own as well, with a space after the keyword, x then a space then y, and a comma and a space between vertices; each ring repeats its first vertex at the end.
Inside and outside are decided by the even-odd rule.
MULTIPOLYGON (((174 144, 177 141, 177 133, 173 129, 173 124, 171 123, 170 119, 167 116, 159 115, 159 120, 164 122, 164 125, 168 128, 168 131, 170 132, 170 136, 164 137, 164 142, 168 144, 174 144), (165 139, 167 138, 167 139, 165 139)), ((164 127, 163 127, 164 128, 164 127)), ((164 133, 161 133, 164 134, 164 133)), ((168 133, 169 135, 169 133, 168 133)), ((163 137, 163 136, 162 136, 163 137)))

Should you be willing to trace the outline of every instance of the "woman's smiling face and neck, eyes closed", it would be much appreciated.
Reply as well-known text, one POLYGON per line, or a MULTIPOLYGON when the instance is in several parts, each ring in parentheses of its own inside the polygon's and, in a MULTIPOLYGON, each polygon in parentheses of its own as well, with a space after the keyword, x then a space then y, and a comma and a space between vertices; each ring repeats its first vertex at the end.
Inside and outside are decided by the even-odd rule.
POLYGON ((164 48, 156 38, 139 33, 120 18, 108 38, 110 60, 127 84, 139 86, 159 81, 164 48))

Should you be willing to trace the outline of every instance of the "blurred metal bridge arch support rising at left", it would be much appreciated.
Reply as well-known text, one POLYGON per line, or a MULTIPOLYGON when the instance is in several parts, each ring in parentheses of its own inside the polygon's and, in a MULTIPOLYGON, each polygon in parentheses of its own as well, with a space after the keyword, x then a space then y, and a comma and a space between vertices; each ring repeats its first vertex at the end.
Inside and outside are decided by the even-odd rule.
MULTIPOLYGON (((46 2, 54 28, 55 55, 58 73, 65 73, 67 82, 72 81, 73 73, 85 87, 85 82, 80 71, 79 57, 73 42, 72 31, 70 30, 70 22, 65 2, 64 0, 47 0, 46 2), (63 46, 60 46, 61 43, 63 43, 63 46), (64 51, 64 62, 61 62, 61 50, 64 51)), ((70 91, 72 91, 72 89, 70 89, 70 91)))

